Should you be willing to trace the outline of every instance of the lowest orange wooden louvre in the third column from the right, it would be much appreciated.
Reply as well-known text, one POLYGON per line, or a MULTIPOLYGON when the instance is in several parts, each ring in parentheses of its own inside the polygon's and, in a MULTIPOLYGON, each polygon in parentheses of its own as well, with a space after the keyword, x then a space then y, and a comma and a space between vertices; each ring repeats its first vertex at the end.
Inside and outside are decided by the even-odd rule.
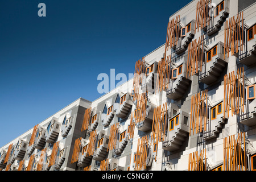
POLYGON ((154 109, 150 145, 152 146, 152 144, 156 144, 156 152, 158 148, 158 143, 163 142, 164 132, 166 131, 166 126, 167 126, 166 122, 167 122, 167 102, 164 103, 163 106, 158 106, 154 109))

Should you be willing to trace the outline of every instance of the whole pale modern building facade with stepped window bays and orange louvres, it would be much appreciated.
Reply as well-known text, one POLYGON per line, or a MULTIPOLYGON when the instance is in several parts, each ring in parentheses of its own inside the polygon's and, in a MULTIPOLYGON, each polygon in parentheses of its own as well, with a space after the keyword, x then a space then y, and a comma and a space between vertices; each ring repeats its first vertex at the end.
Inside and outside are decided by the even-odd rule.
POLYGON ((2 171, 255 171, 256 1, 195 0, 134 78, 0 148, 2 171))

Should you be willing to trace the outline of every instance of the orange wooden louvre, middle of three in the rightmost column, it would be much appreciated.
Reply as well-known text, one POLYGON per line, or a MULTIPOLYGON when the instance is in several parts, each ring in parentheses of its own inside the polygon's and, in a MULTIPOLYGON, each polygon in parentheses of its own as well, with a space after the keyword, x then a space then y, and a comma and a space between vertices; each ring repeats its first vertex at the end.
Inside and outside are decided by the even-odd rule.
POLYGON ((229 111, 232 116, 244 112, 244 73, 243 67, 224 76, 224 118, 229 118, 229 111), (228 115, 225 114, 225 111, 228 115))

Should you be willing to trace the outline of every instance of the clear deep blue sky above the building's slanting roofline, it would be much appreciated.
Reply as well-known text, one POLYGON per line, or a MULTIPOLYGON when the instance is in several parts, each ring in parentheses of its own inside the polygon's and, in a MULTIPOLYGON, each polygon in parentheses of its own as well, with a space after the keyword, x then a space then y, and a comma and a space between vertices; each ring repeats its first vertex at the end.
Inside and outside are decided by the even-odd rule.
POLYGON ((96 100, 100 73, 134 73, 189 2, 1 1, 0 147, 79 97, 96 100))

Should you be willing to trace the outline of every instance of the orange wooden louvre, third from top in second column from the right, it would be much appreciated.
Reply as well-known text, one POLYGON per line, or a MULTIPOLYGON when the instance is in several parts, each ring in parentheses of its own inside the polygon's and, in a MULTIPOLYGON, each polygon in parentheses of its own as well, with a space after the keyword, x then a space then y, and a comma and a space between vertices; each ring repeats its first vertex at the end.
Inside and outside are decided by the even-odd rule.
MULTIPOLYGON (((202 94, 197 93, 191 98, 191 115, 190 115, 190 131, 196 129, 196 134, 203 131, 203 125, 207 123, 207 110, 208 110, 208 90, 204 90, 202 94)), ((206 131, 206 127, 204 127, 206 131)))

